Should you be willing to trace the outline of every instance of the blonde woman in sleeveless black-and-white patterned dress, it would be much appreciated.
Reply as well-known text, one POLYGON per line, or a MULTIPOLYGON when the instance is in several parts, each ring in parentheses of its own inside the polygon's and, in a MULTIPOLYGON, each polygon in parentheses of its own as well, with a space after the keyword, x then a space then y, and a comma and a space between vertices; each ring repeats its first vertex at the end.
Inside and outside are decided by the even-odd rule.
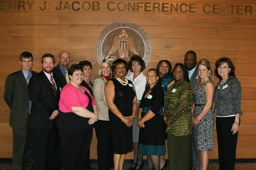
POLYGON ((201 59, 198 63, 197 84, 193 89, 192 131, 194 146, 199 150, 200 170, 207 170, 209 150, 213 150, 214 116, 211 110, 214 94, 210 62, 201 59))

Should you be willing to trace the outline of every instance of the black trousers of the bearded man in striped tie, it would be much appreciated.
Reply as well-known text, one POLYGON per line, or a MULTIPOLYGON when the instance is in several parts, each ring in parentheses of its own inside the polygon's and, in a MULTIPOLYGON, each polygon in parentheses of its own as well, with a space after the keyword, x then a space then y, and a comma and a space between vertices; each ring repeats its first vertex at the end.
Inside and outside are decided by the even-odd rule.
POLYGON ((52 170, 56 146, 56 126, 52 129, 30 129, 35 170, 52 170))

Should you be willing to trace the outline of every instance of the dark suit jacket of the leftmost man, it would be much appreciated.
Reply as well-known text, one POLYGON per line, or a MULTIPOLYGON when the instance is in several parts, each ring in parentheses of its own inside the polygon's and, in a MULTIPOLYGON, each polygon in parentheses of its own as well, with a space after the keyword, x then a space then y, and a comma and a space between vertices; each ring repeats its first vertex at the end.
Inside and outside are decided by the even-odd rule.
MULTIPOLYGON (((35 74, 37 72, 32 71, 32 77, 35 74)), ((22 69, 7 76, 4 99, 11 109, 10 126, 18 129, 25 128, 27 121, 30 120, 30 114, 28 113, 28 87, 22 69)))

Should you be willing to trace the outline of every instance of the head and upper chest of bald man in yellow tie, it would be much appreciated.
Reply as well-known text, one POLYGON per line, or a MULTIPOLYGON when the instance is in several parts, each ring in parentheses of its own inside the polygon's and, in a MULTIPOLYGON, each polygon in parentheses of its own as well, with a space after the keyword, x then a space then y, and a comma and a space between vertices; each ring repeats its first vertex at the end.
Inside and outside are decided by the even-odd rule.
POLYGON ((60 86, 63 88, 69 82, 68 65, 70 63, 70 56, 67 51, 61 51, 58 58, 59 64, 53 69, 53 74, 58 76, 60 86))

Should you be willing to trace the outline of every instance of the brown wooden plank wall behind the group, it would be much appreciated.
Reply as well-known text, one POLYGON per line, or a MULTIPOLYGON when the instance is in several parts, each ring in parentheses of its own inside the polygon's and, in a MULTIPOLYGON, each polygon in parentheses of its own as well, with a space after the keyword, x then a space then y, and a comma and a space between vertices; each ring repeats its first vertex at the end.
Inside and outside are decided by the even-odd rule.
MULTIPOLYGON (((17 2, 17 0, 11 0, 17 2)), ((188 50, 197 53, 197 61, 207 58, 212 69, 220 57, 230 57, 236 67, 236 76, 242 85, 241 126, 236 158, 256 158, 256 1, 255 0, 179 0, 171 3, 197 4, 196 13, 161 13, 113 11, 106 9, 108 1, 100 2, 99 11, 54 10, 59 1, 46 0, 48 11, 40 11, 44 0, 34 1, 29 10, 1 10, 0 4, 0 158, 12 157, 12 129, 9 127, 9 112, 3 99, 7 75, 20 69, 19 55, 30 51, 34 56, 33 70, 41 70, 41 56, 52 53, 56 62, 59 52, 66 50, 71 55, 71 64, 81 60, 92 62, 92 82, 98 76, 98 61, 95 45, 98 36, 115 22, 132 22, 140 26, 151 40, 151 58, 144 70, 156 68, 158 61, 167 59, 172 66, 184 62, 188 50), (249 5, 252 14, 205 14, 204 4, 249 5)), ((67 0, 72 3, 74 0, 67 0)), ((115 3, 121 0, 113 0, 115 3)), ((136 0, 135 0, 136 1, 136 0)), ((63 1, 64 2, 64 1, 63 1)), ((66 2, 66 1, 65 1, 66 2)), ((134 2, 127 0, 125 3, 134 2)), ((140 0, 140 2, 168 2, 140 0)), ((4 3, 7 3, 4 2, 4 3)), ((116 6, 112 6, 116 7, 116 6)), ((5 8, 5 7, 4 7, 5 8)), ((56 63, 58 64, 58 62, 56 63)), ((215 84, 217 83, 215 77, 215 84)), ((217 135, 210 158, 217 158, 217 135)), ((91 158, 97 159, 95 133, 91 145, 91 158)), ((165 155, 167 158, 167 154, 165 155)), ((126 159, 133 159, 128 153, 126 159)))

